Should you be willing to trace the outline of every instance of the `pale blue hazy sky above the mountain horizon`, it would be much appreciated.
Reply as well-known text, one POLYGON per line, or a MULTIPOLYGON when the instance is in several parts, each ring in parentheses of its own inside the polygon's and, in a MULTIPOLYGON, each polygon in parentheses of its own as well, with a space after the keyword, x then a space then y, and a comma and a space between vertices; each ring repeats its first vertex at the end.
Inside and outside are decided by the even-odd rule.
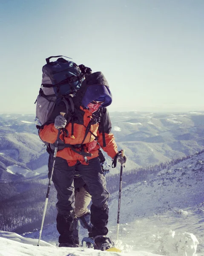
POLYGON ((204 111, 204 0, 0 0, 0 112, 34 113, 45 58, 102 71, 109 111, 204 111))

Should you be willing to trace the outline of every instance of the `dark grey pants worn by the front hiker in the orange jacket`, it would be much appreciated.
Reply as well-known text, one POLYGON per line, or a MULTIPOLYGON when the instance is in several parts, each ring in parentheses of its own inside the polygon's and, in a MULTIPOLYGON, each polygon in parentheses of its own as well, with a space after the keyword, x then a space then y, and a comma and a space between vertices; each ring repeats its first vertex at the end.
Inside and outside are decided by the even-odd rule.
MULTIPOLYGON (((75 189, 74 189, 74 173, 78 171, 80 176, 89 188, 90 195, 92 195, 91 206, 91 222, 93 225, 92 231, 89 236, 106 235, 108 230, 106 225, 108 223, 108 206, 109 192, 106 189, 106 180, 101 169, 99 158, 89 160, 89 165, 82 165, 80 162, 75 166, 68 166, 66 160, 56 157, 55 168, 53 172, 53 183, 57 190, 57 211, 58 215, 72 215, 75 202, 75 189)), ((62 218, 58 218, 62 220, 62 218)), ((67 219, 67 218, 66 218, 67 219)), ((64 225, 63 221, 58 221, 58 232, 64 233, 68 229, 68 225, 64 225), (66 230, 65 228, 66 227, 66 230)), ((69 232, 72 234, 72 223, 70 222, 69 232)), ((67 223, 67 222, 66 222, 67 223)))

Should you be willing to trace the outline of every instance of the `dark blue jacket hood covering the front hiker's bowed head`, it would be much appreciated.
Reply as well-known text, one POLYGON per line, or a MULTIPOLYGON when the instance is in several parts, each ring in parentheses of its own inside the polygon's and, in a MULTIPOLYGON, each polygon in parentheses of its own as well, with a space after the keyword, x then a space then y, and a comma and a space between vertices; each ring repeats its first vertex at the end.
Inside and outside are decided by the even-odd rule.
POLYGON ((83 107, 86 108, 90 102, 100 98, 104 100, 101 104, 103 108, 112 103, 112 94, 109 90, 109 84, 102 72, 90 74, 82 83, 82 88, 84 87, 86 87, 86 91, 81 100, 83 107))

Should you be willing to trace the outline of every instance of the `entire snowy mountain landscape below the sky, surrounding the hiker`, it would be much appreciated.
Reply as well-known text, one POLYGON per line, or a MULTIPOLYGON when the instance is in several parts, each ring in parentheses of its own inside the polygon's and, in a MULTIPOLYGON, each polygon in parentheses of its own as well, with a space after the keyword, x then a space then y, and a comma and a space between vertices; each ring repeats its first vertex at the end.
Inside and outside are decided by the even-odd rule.
MULTIPOLYGON (((131 115, 136 115, 136 113, 131 113, 131 115)), ((176 126, 166 126, 166 130, 164 126, 162 128, 157 126, 157 119, 154 129, 162 129, 159 135, 159 140, 161 140, 161 136, 163 137, 162 143, 158 142, 158 138, 155 139, 154 135, 158 134, 158 131, 154 134, 151 130, 146 139, 142 137, 144 131, 141 133, 138 127, 140 129, 141 126, 145 127, 147 120, 146 117, 141 117, 141 114, 137 118, 146 120, 145 122, 141 121, 142 125, 133 125, 136 120, 130 122, 130 119, 126 122, 123 120, 119 124, 118 120, 121 120, 121 116, 112 116, 113 129, 115 129, 113 132, 119 141, 118 144, 121 148, 126 149, 127 156, 130 155, 129 158, 132 160, 129 168, 124 170, 122 187, 120 236, 119 242, 116 244, 122 253, 103 253, 86 248, 58 248, 58 233, 55 224, 56 194, 53 185, 45 226, 43 227, 42 241, 40 247, 37 247, 48 183, 47 153, 37 134, 35 134, 36 131, 32 130, 34 124, 22 122, 20 134, 18 125, 9 129, 7 126, 1 125, 0 160, 3 167, 1 168, 0 181, 2 195, 0 214, 2 220, 6 220, 6 218, 7 220, 5 223, 1 223, 0 256, 13 255, 14 251, 17 256, 49 256, 53 253, 59 256, 101 256, 105 254, 115 256, 204 256, 203 116, 203 113, 191 113, 187 117, 181 116, 182 124, 181 119, 177 119, 178 121, 173 123, 176 126), (183 118, 188 119, 185 125, 183 118), (124 123, 125 126, 123 126, 124 123), (25 124, 27 126, 24 126, 25 124), (15 130, 16 128, 17 130, 15 130), (24 129, 29 129, 29 131, 24 129), (130 136, 127 133, 137 133, 138 135, 133 138, 131 137, 133 135, 130 136), (147 142, 147 140, 152 141, 147 142), (166 153, 166 147, 170 147, 170 140, 171 143, 174 140, 174 145, 177 145, 174 148, 175 157, 172 158, 170 155, 167 157, 166 153), (6 144, 3 144, 5 142, 6 144), (138 143, 142 143, 140 147, 143 150, 140 151, 137 148, 138 143), (146 146, 150 147, 149 151, 146 150, 146 146), (161 151, 160 148, 165 149, 161 151), (166 165, 163 164, 159 166, 159 169, 158 166, 152 166, 152 169, 147 171, 144 165, 138 165, 137 160, 144 157, 142 162, 145 162, 150 151, 153 154, 157 152, 157 156, 159 152, 163 160, 169 161, 173 158, 177 160, 166 165), (200 153, 195 154, 198 151, 200 153), (187 157, 189 153, 192 155, 187 157), (182 157, 183 160, 178 160, 182 157), (144 168, 141 169, 141 173, 138 171, 139 169, 135 169, 136 166, 144 168), (12 222, 14 219, 15 221, 12 222)), ((21 119, 22 116, 19 118, 21 119)), ((136 119, 135 116, 134 118, 136 119)), ((160 116, 159 122, 163 118, 164 116, 160 116)), ((126 119, 125 115, 124 119, 126 119)), ((156 118, 154 117, 154 119, 156 118)), ((154 119, 152 119, 152 123, 154 119)), ((30 120, 27 122, 31 122, 31 119, 27 120, 30 120)), ((9 121, 4 119, 4 122, 9 121)), ((18 120, 18 122, 20 121, 18 120)), ((150 128, 147 127, 147 129, 150 128)), ((169 154, 172 154, 171 148, 168 151, 169 154)), ((157 164, 160 162, 159 159, 161 158, 157 158, 157 164)), ((152 158, 150 157, 149 163, 152 163, 151 161, 152 158)), ((115 240, 119 179, 114 173, 106 177, 111 192, 109 236, 115 240)), ((87 235, 83 228, 80 232, 80 239, 87 235)))

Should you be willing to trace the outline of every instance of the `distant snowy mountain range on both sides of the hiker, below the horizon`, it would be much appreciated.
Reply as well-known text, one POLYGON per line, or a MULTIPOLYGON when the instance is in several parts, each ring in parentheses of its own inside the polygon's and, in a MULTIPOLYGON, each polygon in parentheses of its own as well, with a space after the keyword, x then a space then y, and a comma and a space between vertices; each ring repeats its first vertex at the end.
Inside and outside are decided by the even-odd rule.
MULTIPOLYGON (((187 113, 112 112, 112 132, 125 149, 126 170, 195 154, 204 148, 204 111, 187 113)), ((34 171, 47 164, 34 115, 0 115, 0 170, 17 165, 34 171)), ((111 163, 111 161, 109 161, 111 163)), ((112 170, 112 174, 118 169, 112 170)))

